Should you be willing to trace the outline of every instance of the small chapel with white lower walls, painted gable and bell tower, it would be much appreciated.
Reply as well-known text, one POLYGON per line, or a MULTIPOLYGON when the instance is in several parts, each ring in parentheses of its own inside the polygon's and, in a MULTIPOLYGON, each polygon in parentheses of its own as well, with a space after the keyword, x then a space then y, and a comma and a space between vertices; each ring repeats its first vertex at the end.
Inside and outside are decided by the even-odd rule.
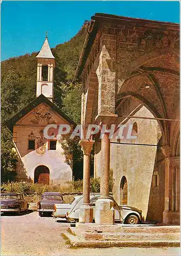
MULTIPOLYGON (((48 38, 36 56, 36 98, 7 123, 13 133, 14 150, 18 155, 16 181, 30 180, 41 184, 66 184, 72 180, 72 164, 67 164, 56 134, 46 139, 47 124, 75 123, 54 104, 54 69, 56 60, 48 38), (54 136, 55 135, 55 136, 54 136)), ((72 163, 72 155, 69 156, 72 163)))

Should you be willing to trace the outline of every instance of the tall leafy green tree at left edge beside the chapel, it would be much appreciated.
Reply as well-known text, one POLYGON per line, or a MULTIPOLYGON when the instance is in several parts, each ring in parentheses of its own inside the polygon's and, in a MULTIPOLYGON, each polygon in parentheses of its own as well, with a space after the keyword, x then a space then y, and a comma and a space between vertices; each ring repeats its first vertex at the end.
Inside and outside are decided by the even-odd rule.
POLYGON ((1 176, 2 182, 14 180, 16 175, 17 155, 13 152, 12 134, 6 127, 6 121, 18 111, 20 105, 19 77, 9 70, 9 75, 2 74, 2 109, 1 109, 1 176))

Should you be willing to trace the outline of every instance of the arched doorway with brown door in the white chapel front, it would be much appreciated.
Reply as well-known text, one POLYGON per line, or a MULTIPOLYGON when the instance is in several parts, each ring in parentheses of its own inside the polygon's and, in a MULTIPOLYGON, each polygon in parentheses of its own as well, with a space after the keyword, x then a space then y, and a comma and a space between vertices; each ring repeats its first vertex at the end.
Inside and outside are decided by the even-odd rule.
POLYGON ((45 165, 39 165, 35 169, 34 183, 49 185, 49 169, 45 165))

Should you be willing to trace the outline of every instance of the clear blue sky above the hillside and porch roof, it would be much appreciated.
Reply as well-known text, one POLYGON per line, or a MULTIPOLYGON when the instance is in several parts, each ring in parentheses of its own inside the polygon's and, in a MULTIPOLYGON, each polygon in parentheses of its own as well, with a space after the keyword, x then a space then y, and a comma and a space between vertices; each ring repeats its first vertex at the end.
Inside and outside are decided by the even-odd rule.
POLYGON ((50 47, 70 40, 96 12, 179 23, 178 1, 3 1, 1 59, 40 50, 45 31, 50 47))

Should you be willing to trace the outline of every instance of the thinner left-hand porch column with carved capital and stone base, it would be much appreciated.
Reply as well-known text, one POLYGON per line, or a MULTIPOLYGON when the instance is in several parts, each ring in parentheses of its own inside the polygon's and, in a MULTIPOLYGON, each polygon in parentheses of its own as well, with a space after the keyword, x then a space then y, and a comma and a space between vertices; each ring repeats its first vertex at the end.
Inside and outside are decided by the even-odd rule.
POLYGON ((84 173, 83 173, 83 199, 84 202, 80 208, 79 222, 89 223, 93 220, 93 208, 90 207, 90 155, 93 147, 93 140, 80 141, 84 153, 84 173))

